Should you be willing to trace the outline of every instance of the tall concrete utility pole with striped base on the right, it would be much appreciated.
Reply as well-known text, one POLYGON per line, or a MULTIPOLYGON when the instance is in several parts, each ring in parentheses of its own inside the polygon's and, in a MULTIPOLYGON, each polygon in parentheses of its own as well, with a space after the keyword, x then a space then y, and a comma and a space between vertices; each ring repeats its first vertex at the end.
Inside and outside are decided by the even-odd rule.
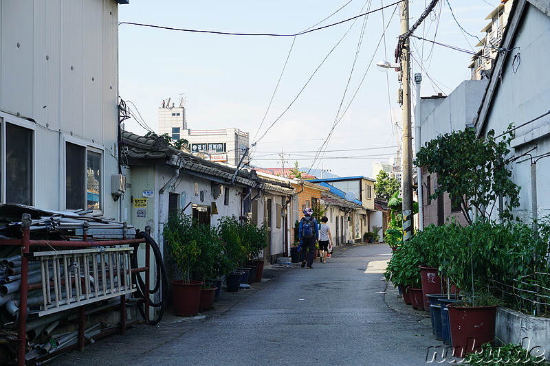
MULTIPOLYGON (((407 34, 408 28, 408 0, 401 1, 401 34, 407 34)), ((409 37, 404 38, 401 47, 401 89, 403 92, 403 240, 410 239, 413 232, 412 225, 412 138, 411 138, 411 108, 410 108, 410 55, 409 37)), ((397 55, 396 55, 397 56, 397 55)))

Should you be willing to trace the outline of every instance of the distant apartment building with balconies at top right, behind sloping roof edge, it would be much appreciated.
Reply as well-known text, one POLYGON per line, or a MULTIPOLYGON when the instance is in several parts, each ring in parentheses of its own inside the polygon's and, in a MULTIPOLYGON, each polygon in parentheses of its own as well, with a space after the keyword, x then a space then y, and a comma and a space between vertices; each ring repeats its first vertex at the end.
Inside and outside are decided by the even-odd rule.
POLYGON ((481 49, 472 57, 472 63, 468 66, 472 69, 471 80, 488 79, 493 68, 493 61, 498 53, 498 47, 502 41, 504 30, 508 23, 508 14, 513 0, 501 1, 485 19, 489 23, 485 25, 482 33, 485 37, 476 45, 481 49))

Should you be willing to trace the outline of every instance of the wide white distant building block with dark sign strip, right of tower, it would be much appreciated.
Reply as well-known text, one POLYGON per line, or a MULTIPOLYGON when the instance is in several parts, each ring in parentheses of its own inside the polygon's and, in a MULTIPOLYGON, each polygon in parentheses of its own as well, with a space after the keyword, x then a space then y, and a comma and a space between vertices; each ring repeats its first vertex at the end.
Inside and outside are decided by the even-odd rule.
MULTIPOLYGON (((238 128, 183 130, 181 139, 189 141, 193 154, 203 152, 210 157, 210 161, 221 161, 232 165, 239 165, 250 146, 248 133, 238 128)), ((248 163, 249 160, 250 158, 246 156, 243 163, 248 163)))

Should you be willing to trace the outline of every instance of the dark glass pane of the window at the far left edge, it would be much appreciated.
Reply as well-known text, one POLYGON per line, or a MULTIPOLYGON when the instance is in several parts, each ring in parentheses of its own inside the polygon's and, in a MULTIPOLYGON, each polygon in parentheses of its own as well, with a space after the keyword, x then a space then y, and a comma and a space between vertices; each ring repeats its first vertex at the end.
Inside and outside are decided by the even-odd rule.
POLYGON ((5 124, 4 202, 32 205, 33 131, 5 124))

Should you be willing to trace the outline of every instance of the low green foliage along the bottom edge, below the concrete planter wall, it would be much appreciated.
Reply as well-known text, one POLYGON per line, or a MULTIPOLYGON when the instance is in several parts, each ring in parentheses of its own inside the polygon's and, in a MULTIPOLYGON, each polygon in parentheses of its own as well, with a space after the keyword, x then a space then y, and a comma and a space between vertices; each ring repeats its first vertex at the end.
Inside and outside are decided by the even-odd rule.
POLYGON ((536 366, 544 361, 544 353, 534 357, 529 354, 529 350, 523 349, 520 345, 509 343, 502 347, 493 347, 489 343, 481 345, 481 350, 473 354, 468 354, 465 358, 467 365, 487 365, 487 366, 536 366))

